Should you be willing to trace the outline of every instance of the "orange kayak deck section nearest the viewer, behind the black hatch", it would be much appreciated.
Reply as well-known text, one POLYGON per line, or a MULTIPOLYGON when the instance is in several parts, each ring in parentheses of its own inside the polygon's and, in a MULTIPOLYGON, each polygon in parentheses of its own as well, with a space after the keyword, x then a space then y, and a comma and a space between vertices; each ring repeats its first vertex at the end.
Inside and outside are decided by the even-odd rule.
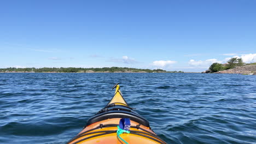
MULTIPOLYGON (((70 143, 121 143, 117 139, 117 125, 119 124, 120 118, 106 119, 101 122, 97 122, 89 125, 83 129, 77 137, 70 143), (102 124, 102 127, 101 127, 102 124), (97 128, 97 129, 95 129, 97 128), (91 130, 95 129, 95 130, 91 130)), ((131 121, 130 131, 133 133, 122 134, 122 138, 127 143, 164 143, 156 134, 148 127, 139 125, 137 122, 131 121), (136 128, 137 127, 137 128, 136 128), (144 130, 147 131, 144 131, 144 130), (139 135, 137 135, 139 134, 139 135), (147 136, 147 137, 145 137, 147 136)))

